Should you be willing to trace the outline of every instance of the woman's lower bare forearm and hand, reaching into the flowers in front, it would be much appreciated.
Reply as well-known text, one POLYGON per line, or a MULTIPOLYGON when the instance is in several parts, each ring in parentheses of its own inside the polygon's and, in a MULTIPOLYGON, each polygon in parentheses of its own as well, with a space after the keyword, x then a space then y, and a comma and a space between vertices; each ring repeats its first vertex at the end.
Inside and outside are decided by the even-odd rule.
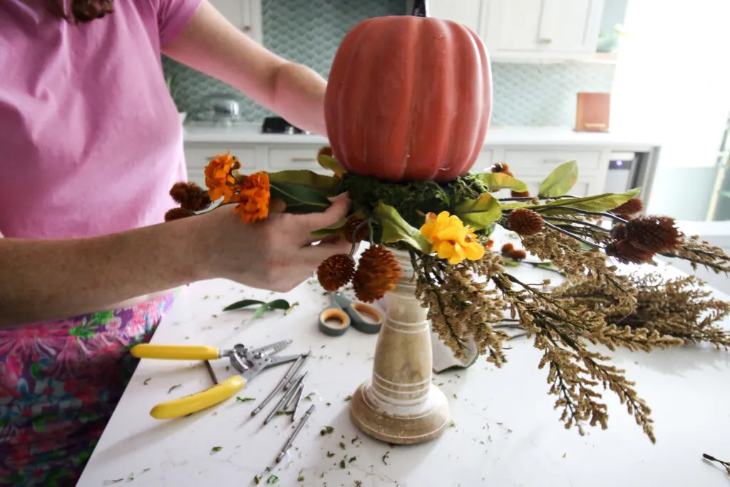
POLYGON ((225 207, 183 220, 85 239, 0 239, 0 327, 110 309, 195 280, 224 277, 289 291, 347 242, 310 245, 345 217, 348 200, 306 215, 246 224, 225 207))

